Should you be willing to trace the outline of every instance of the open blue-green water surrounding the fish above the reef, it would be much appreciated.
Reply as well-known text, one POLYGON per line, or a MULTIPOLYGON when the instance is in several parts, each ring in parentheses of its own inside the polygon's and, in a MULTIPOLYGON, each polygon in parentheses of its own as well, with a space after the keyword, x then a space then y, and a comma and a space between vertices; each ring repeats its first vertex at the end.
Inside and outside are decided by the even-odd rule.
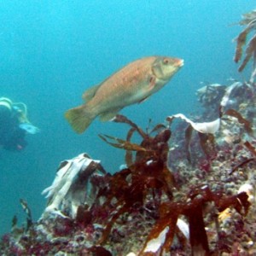
POLYGON ((41 191, 61 160, 87 152, 108 172, 123 163, 124 152, 97 135, 125 138, 127 126, 96 120, 77 135, 63 118, 85 89, 137 58, 177 56, 185 65, 172 81, 121 113, 144 128, 150 118, 157 124, 173 113, 193 114, 201 82, 244 79, 233 62, 241 27, 231 25, 254 8, 248 0, 1 1, 0 96, 25 102, 41 132, 27 136, 23 152, 0 152, 0 234, 15 214, 25 220, 20 198, 39 218, 41 191))

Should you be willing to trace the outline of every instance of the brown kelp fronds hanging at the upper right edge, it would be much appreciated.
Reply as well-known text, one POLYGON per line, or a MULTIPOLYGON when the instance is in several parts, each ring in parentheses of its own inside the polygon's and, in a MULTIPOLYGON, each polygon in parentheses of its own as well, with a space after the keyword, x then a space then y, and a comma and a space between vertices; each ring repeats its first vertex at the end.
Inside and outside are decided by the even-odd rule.
POLYGON ((245 49, 245 57, 239 67, 238 71, 241 72, 246 66, 247 62, 253 58, 253 67, 256 60, 256 11, 243 15, 243 19, 239 22, 241 26, 245 26, 244 30, 236 38, 236 54, 234 61, 241 61, 243 47, 247 43, 247 37, 250 32, 253 32, 253 37, 248 41, 245 49))

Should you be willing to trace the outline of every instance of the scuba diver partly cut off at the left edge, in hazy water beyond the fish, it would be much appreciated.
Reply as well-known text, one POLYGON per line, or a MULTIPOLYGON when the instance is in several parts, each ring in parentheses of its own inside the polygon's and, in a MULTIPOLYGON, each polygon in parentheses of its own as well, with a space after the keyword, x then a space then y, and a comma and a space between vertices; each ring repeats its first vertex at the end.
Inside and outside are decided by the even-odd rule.
POLYGON ((26 134, 38 131, 27 119, 24 103, 0 97, 0 148, 20 151, 26 147, 26 134))

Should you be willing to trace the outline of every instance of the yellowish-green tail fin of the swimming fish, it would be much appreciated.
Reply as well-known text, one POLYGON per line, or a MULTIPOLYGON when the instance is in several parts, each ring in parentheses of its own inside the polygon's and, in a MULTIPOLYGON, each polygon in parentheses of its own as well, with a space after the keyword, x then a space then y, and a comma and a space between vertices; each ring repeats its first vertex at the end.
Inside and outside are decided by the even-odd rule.
POLYGON ((87 113, 84 106, 67 110, 65 118, 77 133, 83 133, 94 119, 87 113))

